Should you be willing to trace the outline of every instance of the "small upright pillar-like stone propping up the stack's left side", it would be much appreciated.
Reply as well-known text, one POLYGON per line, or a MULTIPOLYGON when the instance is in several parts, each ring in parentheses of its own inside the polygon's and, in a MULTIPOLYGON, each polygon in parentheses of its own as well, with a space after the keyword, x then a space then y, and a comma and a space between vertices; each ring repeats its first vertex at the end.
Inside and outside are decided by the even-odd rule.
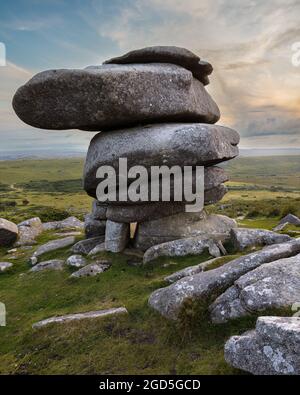
POLYGON ((111 252, 123 251, 129 241, 129 224, 108 220, 105 232, 105 249, 111 252))

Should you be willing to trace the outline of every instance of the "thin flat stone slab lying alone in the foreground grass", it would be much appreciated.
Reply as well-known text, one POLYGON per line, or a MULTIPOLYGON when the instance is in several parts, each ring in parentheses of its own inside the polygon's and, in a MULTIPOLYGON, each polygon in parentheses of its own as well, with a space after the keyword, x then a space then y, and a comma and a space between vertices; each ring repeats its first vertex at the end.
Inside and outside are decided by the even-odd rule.
POLYGON ((89 311, 87 313, 68 314, 60 317, 51 317, 51 318, 47 318, 46 320, 36 322, 35 324, 32 325, 32 328, 38 329, 54 323, 64 324, 72 321, 92 319, 92 318, 102 318, 111 315, 127 314, 127 313, 128 311, 125 309, 125 307, 116 307, 106 310, 89 311))

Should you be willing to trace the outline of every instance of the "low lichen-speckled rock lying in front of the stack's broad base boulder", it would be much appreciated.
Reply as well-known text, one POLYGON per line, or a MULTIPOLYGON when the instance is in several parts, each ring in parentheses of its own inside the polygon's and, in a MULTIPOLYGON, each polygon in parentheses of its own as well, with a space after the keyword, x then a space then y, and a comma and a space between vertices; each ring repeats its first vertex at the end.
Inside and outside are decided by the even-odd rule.
POLYGON ((189 237, 150 247, 144 254, 143 263, 147 264, 163 256, 201 255, 205 250, 208 250, 209 254, 214 257, 221 255, 218 243, 213 239, 206 239, 203 236, 189 237))

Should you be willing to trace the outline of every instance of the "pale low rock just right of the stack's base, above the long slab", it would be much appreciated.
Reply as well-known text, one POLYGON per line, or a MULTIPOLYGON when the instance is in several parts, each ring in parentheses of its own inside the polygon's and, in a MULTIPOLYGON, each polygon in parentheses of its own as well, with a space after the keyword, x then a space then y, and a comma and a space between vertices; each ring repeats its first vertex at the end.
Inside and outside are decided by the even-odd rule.
POLYGON ((234 228, 231 229, 231 241, 237 251, 248 247, 284 243, 291 240, 288 235, 281 235, 265 229, 234 228))

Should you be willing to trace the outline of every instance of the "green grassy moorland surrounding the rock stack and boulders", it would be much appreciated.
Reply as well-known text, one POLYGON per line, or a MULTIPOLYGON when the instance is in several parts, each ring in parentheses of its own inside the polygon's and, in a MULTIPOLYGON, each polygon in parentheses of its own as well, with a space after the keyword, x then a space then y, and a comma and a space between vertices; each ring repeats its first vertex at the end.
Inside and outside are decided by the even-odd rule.
MULTIPOLYGON (((285 211, 297 212, 300 171, 298 167, 291 172, 290 163, 296 166, 298 159, 281 159, 278 177, 284 185, 280 191, 271 189, 278 184, 273 182, 275 176, 270 181, 274 165, 280 168, 278 160, 262 167, 263 172, 262 159, 259 166, 257 160, 251 165, 253 158, 240 160, 227 166, 233 189, 211 211, 238 218, 242 226, 266 229, 274 227, 285 211), (258 170, 261 173, 255 173, 258 170)), ((82 216, 91 204, 76 181, 81 178, 82 164, 79 159, 0 162, 0 216, 16 222, 36 215, 43 220, 82 216)), ((45 233, 38 244, 54 237, 53 232, 45 233)), ((174 323, 147 305, 150 293, 166 285, 165 276, 209 259, 208 255, 164 258, 143 268, 130 266, 123 254, 106 253, 101 256, 112 261, 110 270, 95 278, 70 279, 68 268, 29 273, 31 254, 32 250, 18 252, 17 259, 11 260, 14 267, 0 275, 0 301, 7 309, 7 326, 0 327, 1 374, 242 373, 225 363, 224 342, 253 328, 255 318, 212 325, 191 309, 186 311, 187 320, 174 323), (31 328, 34 322, 53 315, 115 306, 126 306, 129 314, 31 328)), ((45 259, 69 255, 63 249, 45 259)), ((10 256, 0 250, 0 261, 10 260, 10 256)))

